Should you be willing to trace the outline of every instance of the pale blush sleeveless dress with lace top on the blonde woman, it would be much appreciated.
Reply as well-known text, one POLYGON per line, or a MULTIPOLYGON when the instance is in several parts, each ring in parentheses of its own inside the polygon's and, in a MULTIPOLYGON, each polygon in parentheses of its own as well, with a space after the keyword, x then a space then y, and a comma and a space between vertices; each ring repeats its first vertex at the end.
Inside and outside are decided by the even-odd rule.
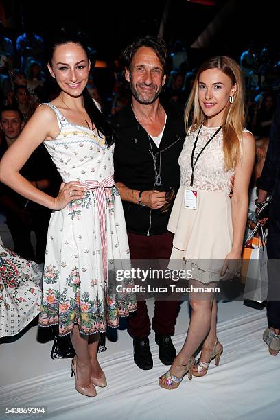
MULTIPOLYGON (((198 130, 199 128, 187 133, 179 156, 180 189, 168 224, 168 229, 174 233, 171 255, 174 262, 171 262, 170 268, 183 268, 180 261, 185 261, 189 263, 187 268, 191 267, 193 270, 194 279, 209 283, 220 280, 224 258, 232 247, 229 193, 234 171, 224 169, 223 138, 220 130, 202 152, 194 169, 192 189, 198 192, 197 209, 185 208, 185 189, 190 189, 191 181, 191 152, 198 130)), ((218 127, 202 126, 194 161, 216 130, 218 127)))

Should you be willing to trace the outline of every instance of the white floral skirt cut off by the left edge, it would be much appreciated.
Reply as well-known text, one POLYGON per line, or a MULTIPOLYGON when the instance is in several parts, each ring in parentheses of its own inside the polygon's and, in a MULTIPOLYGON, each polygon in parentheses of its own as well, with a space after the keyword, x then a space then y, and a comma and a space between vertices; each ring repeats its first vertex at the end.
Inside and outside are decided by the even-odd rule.
POLYGON ((0 337, 14 336, 40 312, 42 272, 2 245, 0 237, 0 337))

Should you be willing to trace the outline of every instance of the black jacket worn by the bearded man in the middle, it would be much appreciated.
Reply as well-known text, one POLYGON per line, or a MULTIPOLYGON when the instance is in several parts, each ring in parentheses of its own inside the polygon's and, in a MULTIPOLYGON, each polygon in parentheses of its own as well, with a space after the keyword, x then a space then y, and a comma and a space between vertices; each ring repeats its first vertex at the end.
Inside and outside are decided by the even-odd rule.
MULTIPOLYGON (((166 191, 174 187, 178 191, 180 186, 180 167, 178 157, 185 140, 183 124, 183 110, 163 106, 167 120, 161 149, 156 148, 154 141, 148 138, 147 132, 139 124, 132 111, 131 104, 122 108, 112 118, 116 132, 114 153, 115 182, 121 182, 131 189, 140 191, 158 189, 166 191), (156 168, 159 172, 161 150, 161 187, 155 185, 155 173, 152 153, 156 157, 156 168)), ((132 233, 140 235, 156 235, 167 231, 170 211, 162 214, 159 210, 123 202, 126 227, 132 233)))

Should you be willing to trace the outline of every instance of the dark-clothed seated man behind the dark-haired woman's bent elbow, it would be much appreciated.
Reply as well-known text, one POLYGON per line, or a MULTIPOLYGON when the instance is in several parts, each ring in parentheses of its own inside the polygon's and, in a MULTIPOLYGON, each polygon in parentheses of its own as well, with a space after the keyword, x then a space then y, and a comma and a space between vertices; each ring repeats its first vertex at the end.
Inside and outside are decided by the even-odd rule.
MULTIPOLYGON (((17 139, 24 125, 19 109, 10 106, 3 108, 0 114, 0 128, 3 131, 0 159, 5 150, 17 139)), ((21 174, 32 185, 44 191, 54 189, 58 183, 56 169, 43 145, 30 156, 30 159, 22 167, 21 174)), ((45 258, 47 228, 51 211, 26 200, 2 183, 0 183, 0 207, 6 215, 15 252, 26 259, 42 262, 45 258), (31 231, 34 231, 36 235, 36 254, 34 254, 30 238, 31 231)))

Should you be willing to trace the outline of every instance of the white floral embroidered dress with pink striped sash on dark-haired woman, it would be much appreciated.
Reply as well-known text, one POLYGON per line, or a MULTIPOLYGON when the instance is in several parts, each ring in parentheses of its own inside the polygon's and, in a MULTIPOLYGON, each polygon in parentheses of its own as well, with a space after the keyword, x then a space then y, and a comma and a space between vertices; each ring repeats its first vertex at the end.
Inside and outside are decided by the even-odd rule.
POLYGON ((58 324, 61 336, 71 333, 74 323, 84 334, 104 332, 107 324, 117 327, 119 316, 136 309, 135 296, 117 293, 110 275, 115 264, 130 261, 121 198, 113 182, 114 146, 108 148, 97 133, 45 105, 54 110, 60 127, 45 147, 63 181, 78 180, 87 191, 83 199, 51 214, 39 324, 58 324))

